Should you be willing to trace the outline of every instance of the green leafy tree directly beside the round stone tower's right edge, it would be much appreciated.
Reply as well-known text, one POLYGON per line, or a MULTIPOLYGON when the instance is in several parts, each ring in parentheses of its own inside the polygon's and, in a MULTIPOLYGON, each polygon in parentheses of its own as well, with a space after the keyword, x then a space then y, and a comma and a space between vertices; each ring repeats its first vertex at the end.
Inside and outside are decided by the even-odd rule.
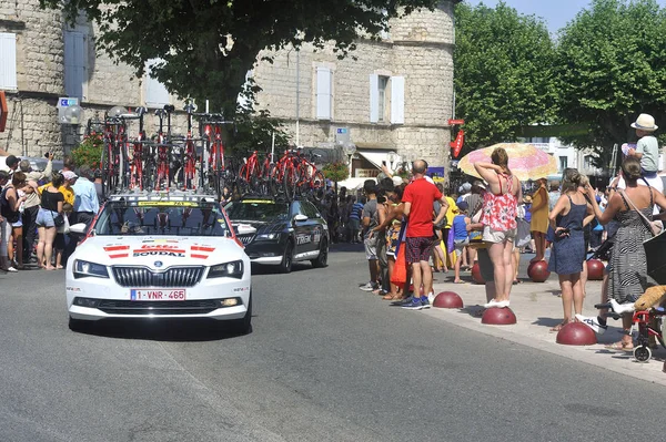
POLYGON ((504 2, 455 7, 456 116, 465 144, 515 141, 521 127, 555 115, 554 43, 543 21, 504 2))

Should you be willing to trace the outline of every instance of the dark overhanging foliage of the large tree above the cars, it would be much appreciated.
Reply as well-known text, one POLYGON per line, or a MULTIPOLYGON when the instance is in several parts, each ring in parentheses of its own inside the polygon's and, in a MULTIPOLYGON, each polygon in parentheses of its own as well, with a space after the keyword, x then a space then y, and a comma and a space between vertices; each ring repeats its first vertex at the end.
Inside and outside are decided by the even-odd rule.
MULTIPOLYGON (((169 92, 225 115, 263 50, 333 41, 344 56, 361 35, 376 35, 387 19, 436 0, 40 0, 73 23, 81 12, 99 25, 97 44, 112 59, 151 74, 169 92)), ((266 55, 269 56, 269 55, 266 55)))

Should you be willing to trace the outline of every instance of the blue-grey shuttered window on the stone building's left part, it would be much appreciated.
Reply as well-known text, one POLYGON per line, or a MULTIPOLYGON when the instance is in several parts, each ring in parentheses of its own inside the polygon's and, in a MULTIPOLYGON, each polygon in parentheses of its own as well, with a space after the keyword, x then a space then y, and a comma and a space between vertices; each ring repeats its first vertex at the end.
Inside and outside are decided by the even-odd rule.
POLYGON ((64 93, 85 100, 88 41, 83 32, 64 31, 64 93))

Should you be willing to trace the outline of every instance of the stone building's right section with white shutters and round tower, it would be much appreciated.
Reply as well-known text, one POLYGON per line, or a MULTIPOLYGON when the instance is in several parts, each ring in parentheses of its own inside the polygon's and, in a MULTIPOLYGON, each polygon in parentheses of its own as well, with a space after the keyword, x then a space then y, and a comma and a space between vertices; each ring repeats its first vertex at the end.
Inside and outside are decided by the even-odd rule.
POLYGON ((301 146, 333 146, 337 130, 346 130, 355 177, 376 176, 390 152, 397 162, 447 165, 456 2, 392 20, 381 41, 357 44, 355 59, 337 60, 331 48, 280 51, 252 72, 263 89, 260 106, 284 120, 301 146))

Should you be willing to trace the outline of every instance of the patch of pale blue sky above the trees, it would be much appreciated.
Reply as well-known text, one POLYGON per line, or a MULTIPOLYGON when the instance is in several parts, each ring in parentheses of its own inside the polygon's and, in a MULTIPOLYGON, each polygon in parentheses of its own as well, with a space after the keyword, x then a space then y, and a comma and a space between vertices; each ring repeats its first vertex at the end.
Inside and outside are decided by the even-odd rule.
MULTIPOLYGON (((481 3, 481 0, 465 0, 472 6, 481 3)), ((494 8, 498 0, 483 0, 487 7, 494 8)), ((504 2, 527 16, 537 16, 543 18, 548 24, 551 33, 564 28, 567 22, 573 20, 578 11, 586 9, 589 0, 504 0, 504 2)), ((660 7, 666 7, 666 0, 658 0, 660 7)))

